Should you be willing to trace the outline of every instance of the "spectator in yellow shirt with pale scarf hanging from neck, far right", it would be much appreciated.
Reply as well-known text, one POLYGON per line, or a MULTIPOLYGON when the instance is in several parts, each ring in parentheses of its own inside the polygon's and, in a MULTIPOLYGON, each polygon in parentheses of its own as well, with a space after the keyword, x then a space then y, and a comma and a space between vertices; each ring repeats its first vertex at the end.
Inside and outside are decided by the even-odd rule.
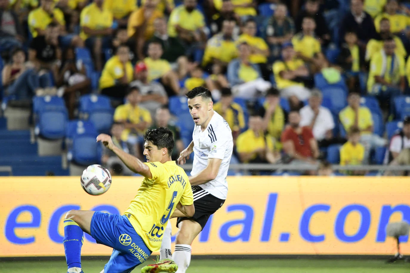
POLYGON ((389 108, 394 96, 405 88, 405 63, 402 56, 394 53, 396 42, 393 37, 384 40, 380 50, 370 60, 367 92, 378 97, 382 106, 389 108))

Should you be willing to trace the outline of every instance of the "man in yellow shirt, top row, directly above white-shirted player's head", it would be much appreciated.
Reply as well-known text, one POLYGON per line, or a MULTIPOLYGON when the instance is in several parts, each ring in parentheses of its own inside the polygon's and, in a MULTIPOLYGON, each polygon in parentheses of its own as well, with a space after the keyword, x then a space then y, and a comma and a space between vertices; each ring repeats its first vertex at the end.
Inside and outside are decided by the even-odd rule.
MULTIPOLYGON (((184 0, 184 4, 176 7, 171 12, 168 21, 168 34, 171 37, 179 36, 187 45, 186 55, 195 52, 195 61, 200 62, 198 50, 205 47, 207 36, 205 34, 205 18, 196 9, 196 0, 184 0)), ((202 55, 202 54, 200 54, 202 55)))

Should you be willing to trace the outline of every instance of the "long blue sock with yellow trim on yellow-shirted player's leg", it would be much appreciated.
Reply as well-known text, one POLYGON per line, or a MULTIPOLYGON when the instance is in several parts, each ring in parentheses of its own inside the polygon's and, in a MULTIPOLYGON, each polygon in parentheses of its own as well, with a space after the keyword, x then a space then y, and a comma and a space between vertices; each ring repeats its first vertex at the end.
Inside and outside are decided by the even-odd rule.
POLYGON ((81 267, 81 247, 84 232, 71 219, 64 219, 64 252, 66 253, 67 267, 81 267))

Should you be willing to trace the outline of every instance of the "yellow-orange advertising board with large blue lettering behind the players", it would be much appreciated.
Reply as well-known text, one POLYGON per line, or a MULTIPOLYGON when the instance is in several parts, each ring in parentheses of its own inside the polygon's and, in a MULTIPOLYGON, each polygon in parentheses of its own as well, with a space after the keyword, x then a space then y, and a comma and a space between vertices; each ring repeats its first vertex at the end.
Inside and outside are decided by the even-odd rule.
MULTIPOLYGON (((0 257, 60 256, 68 210, 122 213, 141 177, 114 177, 100 196, 88 195, 73 176, 2 177, 0 183, 0 257)), ((387 223, 410 222, 408 177, 242 176, 228 183, 228 199, 194 241, 194 255, 391 255, 387 223)), ((111 251, 84 239, 83 255, 111 251)), ((410 253, 410 244, 401 251, 410 253)))

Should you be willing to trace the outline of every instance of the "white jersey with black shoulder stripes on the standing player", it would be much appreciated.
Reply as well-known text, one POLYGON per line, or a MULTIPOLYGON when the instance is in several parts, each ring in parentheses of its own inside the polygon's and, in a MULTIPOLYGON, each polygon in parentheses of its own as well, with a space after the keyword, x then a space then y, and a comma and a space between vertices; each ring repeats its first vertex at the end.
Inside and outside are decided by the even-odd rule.
POLYGON ((195 125, 192 133, 194 140, 194 164, 191 175, 198 174, 205 169, 208 158, 219 158, 222 160, 218 175, 214 180, 199 185, 203 190, 219 199, 226 199, 228 194, 229 163, 233 151, 232 131, 221 115, 214 111, 207 128, 202 131, 200 125, 195 125))

